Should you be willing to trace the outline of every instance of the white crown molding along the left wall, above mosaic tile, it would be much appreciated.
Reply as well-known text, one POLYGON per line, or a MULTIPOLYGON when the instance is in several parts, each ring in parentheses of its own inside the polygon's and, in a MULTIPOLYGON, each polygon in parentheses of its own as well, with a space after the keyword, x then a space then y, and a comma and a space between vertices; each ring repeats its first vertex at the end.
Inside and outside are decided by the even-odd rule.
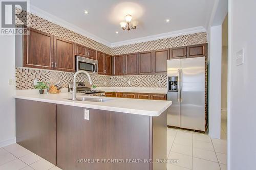
POLYGON ((92 33, 89 33, 89 32, 87 32, 87 31, 85 31, 85 30, 83 30, 83 29, 81 29, 81 28, 79 28, 75 25, 72 25, 71 23, 69 23, 69 22, 67 22, 67 21, 65 21, 65 20, 63 20, 59 17, 56 17, 55 15, 52 15, 52 14, 50 14, 50 13, 44 11, 44 10, 41 10, 41 9, 31 5, 31 4, 30 4, 30 13, 32 13, 34 15, 37 15, 41 18, 44 18, 46 20, 49 20, 53 23, 56 23, 57 25, 59 25, 61 27, 64 27, 64 28, 69 29, 71 31, 74 31, 74 32, 76 32, 78 34, 81 34, 85 37, 88 37, 88 38, 90 38, 94 41, 102 43, 102 44, 104 44, 108 47, 111 47, 110 42, 108 42, 108 41, 106 41, 106 40, 104 40, 104 39, 102 39, 102 38, 100 38, 100 37, 98 37, 98 36, 96 36, 92 33))

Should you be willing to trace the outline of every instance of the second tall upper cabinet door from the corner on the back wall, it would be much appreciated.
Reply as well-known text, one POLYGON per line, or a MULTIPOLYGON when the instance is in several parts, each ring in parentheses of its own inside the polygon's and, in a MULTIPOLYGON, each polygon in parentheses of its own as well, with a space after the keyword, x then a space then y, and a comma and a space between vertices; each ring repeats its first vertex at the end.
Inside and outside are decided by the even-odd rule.
POLYGON ((125 75, 137 75, 138 72, 138 53, 126 54, 125 56, 125 75))

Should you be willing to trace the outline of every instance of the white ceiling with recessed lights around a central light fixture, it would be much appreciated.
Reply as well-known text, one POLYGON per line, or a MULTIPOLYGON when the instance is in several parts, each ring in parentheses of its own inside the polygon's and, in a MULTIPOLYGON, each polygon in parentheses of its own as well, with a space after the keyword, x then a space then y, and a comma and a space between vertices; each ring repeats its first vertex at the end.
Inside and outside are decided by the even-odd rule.
POLYGON ((30 3, 110 44, 195 27, 206 28, 214 6, 214 0, 30 0, 30 3), (89 14, 84 14, 84 10, 89 14), (121 29, 119 22, 124 21, 126 14, 138 20, 136 30, 121 29), (167 18, 169 23, 165 22, 167 18))

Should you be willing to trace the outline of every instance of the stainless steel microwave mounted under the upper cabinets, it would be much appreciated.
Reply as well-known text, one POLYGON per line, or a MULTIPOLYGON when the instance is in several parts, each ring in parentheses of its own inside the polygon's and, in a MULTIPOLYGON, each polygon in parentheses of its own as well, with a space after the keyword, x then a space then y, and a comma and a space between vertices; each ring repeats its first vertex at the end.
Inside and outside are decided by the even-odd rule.
POLYGON ((89 74, 98 74, 98 61, 76 56, 76 71, 84 70, 89 74))

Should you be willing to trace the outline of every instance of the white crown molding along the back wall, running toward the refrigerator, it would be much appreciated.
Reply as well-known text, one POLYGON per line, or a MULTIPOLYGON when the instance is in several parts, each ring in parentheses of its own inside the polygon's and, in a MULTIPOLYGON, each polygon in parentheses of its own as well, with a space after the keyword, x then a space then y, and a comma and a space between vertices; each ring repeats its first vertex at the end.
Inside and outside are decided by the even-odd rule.
POLYGON ((141 38, 135 38, 135 39, 125 40, 125 41, 113 42, 113 43, 111 43, 111 47, 136 44, 136 43, 140 43, 140 42, 153 41, 153 40, 158 40, 158 39, 177 37, 177 36, 181 36, 181 35, 201 33, 201 32, 206 32, 206 29, 202 26, 184 29, 184 30, 172 31, 172 32, 168 32, 168 33, 156 34, 156 35, 151 35, 151 36, 146 36, 146 37, 141 37, 141 38))

